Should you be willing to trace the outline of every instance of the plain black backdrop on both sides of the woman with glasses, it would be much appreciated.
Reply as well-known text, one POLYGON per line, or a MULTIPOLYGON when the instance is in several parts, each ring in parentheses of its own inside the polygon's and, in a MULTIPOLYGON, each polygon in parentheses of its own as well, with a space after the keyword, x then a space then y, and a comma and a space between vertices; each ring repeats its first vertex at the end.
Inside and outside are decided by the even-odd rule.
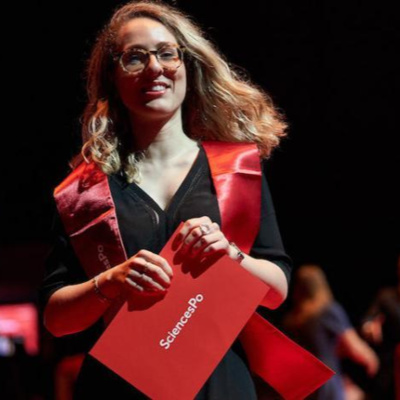
MULTIPOLYGON (((284 243, 295 266, 323 266, 355 324, 376 290, 394 282, 400 247, 399 20, 390 3, 366 3, 173 3, 286 114, 289 136, 268 171, 284 243)), ((118 4, 41 1, 10 16, 2 302, 35 298, 52 189, 79 149, 85 60, 118 4)))

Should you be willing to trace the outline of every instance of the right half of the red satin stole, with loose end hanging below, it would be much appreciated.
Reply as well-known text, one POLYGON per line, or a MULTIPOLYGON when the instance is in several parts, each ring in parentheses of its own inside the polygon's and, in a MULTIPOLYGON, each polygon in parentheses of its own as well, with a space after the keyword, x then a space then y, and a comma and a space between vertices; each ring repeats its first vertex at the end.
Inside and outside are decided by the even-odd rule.
MULTIPOLYGON (((203 147, 217 192, 222 231, 249 253, 261 216, 258 149, 254 144, 225 142, 203 142, 203 147)), ((260 305, 266 306, 265 299, 260 305)), ((240 340, 251 370, 285 399, 303 399, 333 375, 257 313, 243 328, 240 340)))

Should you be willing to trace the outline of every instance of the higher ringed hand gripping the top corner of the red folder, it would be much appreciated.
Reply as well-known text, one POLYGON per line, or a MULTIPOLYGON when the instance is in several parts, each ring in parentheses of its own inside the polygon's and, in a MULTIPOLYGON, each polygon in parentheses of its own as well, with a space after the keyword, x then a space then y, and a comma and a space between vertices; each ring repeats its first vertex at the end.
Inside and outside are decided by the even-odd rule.
POLYGON ((178 232, 173 248, 191 257, 207 257, 217 252, 231 255, 231 246, 219 225, 209 217, 188 219, 178 232))

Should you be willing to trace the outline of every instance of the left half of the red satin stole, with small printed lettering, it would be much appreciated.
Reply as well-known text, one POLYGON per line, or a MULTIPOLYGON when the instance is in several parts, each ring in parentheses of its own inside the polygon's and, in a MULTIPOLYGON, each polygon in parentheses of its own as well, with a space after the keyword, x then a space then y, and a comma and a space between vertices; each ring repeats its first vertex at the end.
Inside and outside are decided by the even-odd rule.
MULTIPOLYGON (((65 231, 89 278, 127 259, 107 176, 96 164, 81 163, 54 190, 65 231)), ((123 301, 104 314, 108 325, 123 301)))

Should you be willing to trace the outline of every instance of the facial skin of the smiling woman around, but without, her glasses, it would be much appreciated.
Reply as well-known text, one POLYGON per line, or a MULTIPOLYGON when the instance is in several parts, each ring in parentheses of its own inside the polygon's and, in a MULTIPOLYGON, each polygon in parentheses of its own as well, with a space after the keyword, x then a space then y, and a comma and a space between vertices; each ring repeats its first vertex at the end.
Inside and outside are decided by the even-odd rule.
MULTIPOLYGON (((120 51, 132 47, 157 50, 164 43, 178 44, 174 35, 158 21, 135 18, 118 32, 120 51)), ((122 102, 133 120, 155 120, 174 115, 180 110, 186 94, 186 69, 166 70, 154 55, 138 74, 129 74, 118 63, 115 82, 122 102)))

